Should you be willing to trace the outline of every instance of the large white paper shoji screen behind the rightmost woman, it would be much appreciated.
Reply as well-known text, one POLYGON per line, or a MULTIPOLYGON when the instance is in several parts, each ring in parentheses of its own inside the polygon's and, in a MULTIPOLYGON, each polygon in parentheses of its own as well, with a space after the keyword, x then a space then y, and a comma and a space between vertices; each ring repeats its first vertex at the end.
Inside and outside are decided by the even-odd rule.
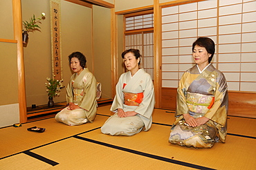
POLYGON ((163 87, 176 88, 194 65, 197 37, 214 40, 212 64, 226 75, 229 91, 256 91, 256 1, 209 0, 163 8, 163 87))

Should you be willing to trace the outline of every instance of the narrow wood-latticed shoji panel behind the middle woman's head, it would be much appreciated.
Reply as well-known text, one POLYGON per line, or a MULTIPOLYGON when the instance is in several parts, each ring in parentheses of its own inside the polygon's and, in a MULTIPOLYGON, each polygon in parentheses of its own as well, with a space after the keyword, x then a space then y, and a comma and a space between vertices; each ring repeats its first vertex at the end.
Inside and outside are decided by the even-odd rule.
POLYGON ((140 68, 154 79, 153 10, 125 15, 125 49, 140 50, 140 68), (133 16, 135 15, 135 16, 133 16))

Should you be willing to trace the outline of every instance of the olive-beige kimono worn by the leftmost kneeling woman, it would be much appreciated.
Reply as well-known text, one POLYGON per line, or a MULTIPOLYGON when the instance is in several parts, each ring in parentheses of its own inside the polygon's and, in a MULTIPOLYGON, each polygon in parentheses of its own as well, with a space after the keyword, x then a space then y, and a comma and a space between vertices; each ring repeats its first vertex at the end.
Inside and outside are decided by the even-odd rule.
POLYGON ((66 88, 66 102, 73 102, 80 108, 71 111, 67 106, 57 113, 55 120, 69 126, 93 122, 97 111, 96 91, 96 79, 88 68, 84 68, 80 75, 73 74, 66 88))

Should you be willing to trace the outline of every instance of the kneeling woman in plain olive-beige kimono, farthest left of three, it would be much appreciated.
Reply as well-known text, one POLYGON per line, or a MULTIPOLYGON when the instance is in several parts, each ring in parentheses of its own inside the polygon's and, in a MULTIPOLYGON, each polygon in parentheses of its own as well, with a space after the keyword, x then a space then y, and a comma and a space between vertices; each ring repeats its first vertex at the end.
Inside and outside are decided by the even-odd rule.
POLYGON ((66 88, 67 106, 57 113, 55 120, 69 126, 93 122, 97 111, 96 79, 86 68, 82 53, 72 53, 68 59, 74 74, 66 88))

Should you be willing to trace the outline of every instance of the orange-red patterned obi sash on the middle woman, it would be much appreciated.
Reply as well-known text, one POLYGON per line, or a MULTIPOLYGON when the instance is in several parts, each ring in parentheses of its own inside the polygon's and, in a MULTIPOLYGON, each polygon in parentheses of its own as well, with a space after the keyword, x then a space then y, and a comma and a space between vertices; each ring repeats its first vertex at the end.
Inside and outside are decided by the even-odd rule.
POLYGON ((138 106, 143 102, 143 93, 124 93, 125 102, 127 106, 138 106))

